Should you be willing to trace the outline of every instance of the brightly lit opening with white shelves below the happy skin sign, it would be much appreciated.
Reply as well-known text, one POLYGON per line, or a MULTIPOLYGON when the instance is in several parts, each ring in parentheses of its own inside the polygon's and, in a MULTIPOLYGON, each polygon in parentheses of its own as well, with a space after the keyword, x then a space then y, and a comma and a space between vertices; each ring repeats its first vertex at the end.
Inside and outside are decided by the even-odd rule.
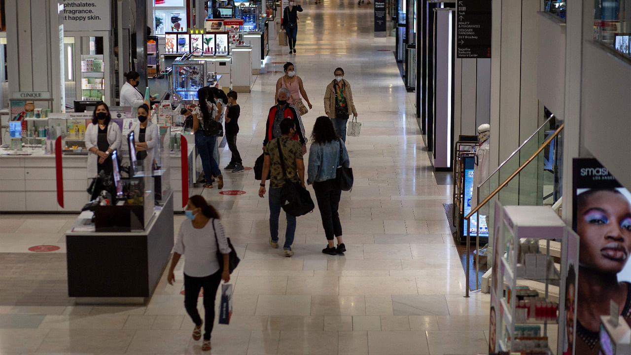
POLYGON ((110 104, 109 49, 109 32, 64 33, 66 109, 74 109, 75 100, 103 100, 110 104))

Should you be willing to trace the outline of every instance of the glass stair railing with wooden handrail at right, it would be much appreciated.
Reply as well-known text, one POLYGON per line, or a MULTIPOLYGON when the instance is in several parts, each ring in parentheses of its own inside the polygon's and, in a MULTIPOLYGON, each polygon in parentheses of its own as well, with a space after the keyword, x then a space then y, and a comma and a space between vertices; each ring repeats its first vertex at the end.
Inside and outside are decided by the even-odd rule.
MULTIPOLYGON (((476 208, 478 214, 473 214, 476 208, 471 209, 464 218, 471 217, 471 228, 474 226, 488 226, 488 241, 492 248, 493 226, 495 219, 495 202, 502 205, 552 205, 555 202, 555 180, 560 176, 561 169, 555 162, 558 147, 561 141, 563 125, 555 126, 555 117, 551 116, 543 123, 507 160, 488 176, 478 186, 478 201, 476 208), (501 188, 498 190, 498 187, 501 188), (497 191, 496 191, 497 190, 497 191), (489 198, 490 196, 490 198, 489 198), (479 207, 478 207, 479 206, 479 207), (476 220, 479 219, 479 220, 476 220)), ((474 187, 475 188, 475 187, 474 187)), ((558 193, 558 191, 557 191, 558 193)), ((475 238, 477 231, 471 231, 475 238)), ((469 248, 470 242, 467 246, 469 248)), ((479 249, 476 240, 476 250, 479 249)), ((469 253, 467 253, 469 255, 469 253)), ((476 253, 476 258, 478 253, 476 253)), ((488 259, 488 262, 492 260, 488 259)), ((476 260, 476 271, 479 262, 476 260)), ((467 261, 469 265, 469 261, 467 261)), ((468 268, 467 268, 468 269, 468 268)), ((467 277, 469 269, 467 270, 467 277)), ((476 272, 476 275, 478 273, 476 272)), ((467 285, 468 285, 467 280, 467 285)), ((478 289, 476 277, 476 289, 478 289)), ((468 296, 467 287, 467 296, 468 296)))

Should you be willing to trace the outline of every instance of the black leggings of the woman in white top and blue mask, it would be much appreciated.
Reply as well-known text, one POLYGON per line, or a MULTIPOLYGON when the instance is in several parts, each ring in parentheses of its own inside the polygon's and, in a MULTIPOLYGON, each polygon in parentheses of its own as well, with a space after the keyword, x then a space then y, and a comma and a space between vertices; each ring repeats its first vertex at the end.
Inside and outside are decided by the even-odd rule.
POLYGON ((191 316, 195 325, 201 325, 201 317, 197 310, 197 301, 199 298, 199 290, 204 289, 204 340, 210 340, 210 334, 213 332, 213 323, 215 323, 215 296, 221 282, 221 272, 204 277, 192 277, 184 274, 184 308, 186 313, 191 316))

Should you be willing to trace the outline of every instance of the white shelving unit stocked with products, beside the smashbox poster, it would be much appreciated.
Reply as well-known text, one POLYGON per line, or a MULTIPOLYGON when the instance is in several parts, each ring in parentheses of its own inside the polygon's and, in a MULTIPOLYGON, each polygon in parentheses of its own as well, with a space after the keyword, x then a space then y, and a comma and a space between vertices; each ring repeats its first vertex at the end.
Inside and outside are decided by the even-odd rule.
POLYGON ((565 286, 568 274, 574 275, 570 283, 577 281, 576 272, 568 270, 578 268, 579 237, 543 206, 502 207, 497 202, 494 227, 490 338, 495 344, 490 350, 562 354, 567 312, 576 319, 574 308, 565 310, 565 286), (560 260, 550 255, 553 242, 560 243, 560 260), (558 331, 557 344, 548 343, 548 328, 558 331))

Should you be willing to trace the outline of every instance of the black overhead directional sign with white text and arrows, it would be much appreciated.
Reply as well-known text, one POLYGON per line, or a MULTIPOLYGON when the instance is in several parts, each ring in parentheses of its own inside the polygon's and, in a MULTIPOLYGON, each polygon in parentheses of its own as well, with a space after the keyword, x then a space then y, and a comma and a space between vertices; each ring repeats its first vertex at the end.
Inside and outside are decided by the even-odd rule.
POLYGON ((491 57, 492 0, 458 0, 456 47, 458 58, 491 57))

